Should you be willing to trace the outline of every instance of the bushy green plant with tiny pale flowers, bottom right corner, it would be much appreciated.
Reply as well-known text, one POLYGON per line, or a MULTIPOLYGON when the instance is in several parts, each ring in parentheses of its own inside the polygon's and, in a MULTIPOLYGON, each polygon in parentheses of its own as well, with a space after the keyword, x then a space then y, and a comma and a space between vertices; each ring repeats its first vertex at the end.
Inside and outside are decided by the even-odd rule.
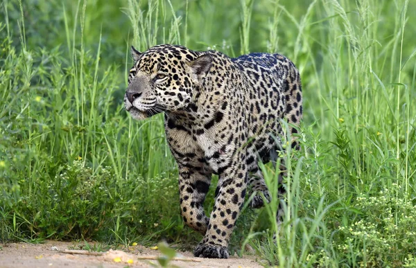
POLYGON ((370 197, 361 194, 356 203, 363 213, 338 228, 340 239, 334 246, 365 267, 404 265, 405 258, 416 253, 416 206, 401 186, 394 183, 370 197))

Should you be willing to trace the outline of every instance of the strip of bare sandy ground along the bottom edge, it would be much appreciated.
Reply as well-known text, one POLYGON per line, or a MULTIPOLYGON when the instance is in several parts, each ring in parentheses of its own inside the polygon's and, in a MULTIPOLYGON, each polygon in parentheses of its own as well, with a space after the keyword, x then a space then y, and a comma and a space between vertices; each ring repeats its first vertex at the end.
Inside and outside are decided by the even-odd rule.
MULTIPOLYGON (((0 268, 3 267, 154 267, 157 260, 143 260, 142 258, 156 258, 161 253, 140 245, 129 247, 123 251, 106 251, 100 256, 85 255, 87 251, 78 253, 64 253, 73 249, 80 249, 80 242, 46 241, 44 244, 9 243, 0 244, 0 268), (153 263, 153 265, 152 265, 153 263)), ((89 243, 92 244, 92 243, 89 243)), ((227 267, 248 268, 263 267, 257 262, 256 256, 231 256, 227 260, 194 258, 191 252, 177 252, 184 260, 169 262, 168 267, 227 267)))

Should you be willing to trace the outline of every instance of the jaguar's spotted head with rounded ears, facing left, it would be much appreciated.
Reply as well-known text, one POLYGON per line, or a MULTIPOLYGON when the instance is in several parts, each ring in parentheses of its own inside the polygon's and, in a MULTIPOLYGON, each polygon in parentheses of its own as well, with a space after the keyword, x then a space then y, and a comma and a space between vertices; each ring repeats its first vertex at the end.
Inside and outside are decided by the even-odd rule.
POLYGON ((131 52, 135 64, 128 75, 124 105, 137 120, 187 107, 212 64, 208 53, 184 46, 164 44, 144 53, 132 47, 131 52))

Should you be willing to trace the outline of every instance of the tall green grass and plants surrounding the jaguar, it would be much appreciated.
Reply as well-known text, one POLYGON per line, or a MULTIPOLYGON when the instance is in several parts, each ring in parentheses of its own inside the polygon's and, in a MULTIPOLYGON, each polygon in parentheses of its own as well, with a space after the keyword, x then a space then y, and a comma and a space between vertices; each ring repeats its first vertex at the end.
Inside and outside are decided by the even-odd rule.
MULTIPOLYGON (((416 267, 415 8, 0 1, 0 240, 200 240, 180 217, 162 116, 137 122, 123 110, 129 46, 166 42, 279 52, 301 72, 302 151, 282 155, 292 179, 279 240, 277 201, 244 208, 232 253, 251 244, 279 267, 416 267)), ((275 189, 278 172, 263 173, 275 189)))

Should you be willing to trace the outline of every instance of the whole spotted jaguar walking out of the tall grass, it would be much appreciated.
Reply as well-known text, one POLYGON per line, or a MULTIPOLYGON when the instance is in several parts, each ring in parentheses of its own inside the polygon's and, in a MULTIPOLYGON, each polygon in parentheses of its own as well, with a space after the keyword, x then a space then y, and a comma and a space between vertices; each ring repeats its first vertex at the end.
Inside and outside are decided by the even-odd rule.
POLYGON ((297 133, 292 125, 302 118, 299 72, 279 54, 230 58, 164 44, 144 53, 132 48, 132 56, 125 109, 136 119, 164 111, 166 139, 179 169, 182 217, 205 235, 194 254, 227 258, 247 186, 257 193, 253 208, 263 206, 261 193, 271 198, 258 161, 277 159, 280 119, 297 133), (202 205, 212 174, 219 181, 207 217, 202 205))

